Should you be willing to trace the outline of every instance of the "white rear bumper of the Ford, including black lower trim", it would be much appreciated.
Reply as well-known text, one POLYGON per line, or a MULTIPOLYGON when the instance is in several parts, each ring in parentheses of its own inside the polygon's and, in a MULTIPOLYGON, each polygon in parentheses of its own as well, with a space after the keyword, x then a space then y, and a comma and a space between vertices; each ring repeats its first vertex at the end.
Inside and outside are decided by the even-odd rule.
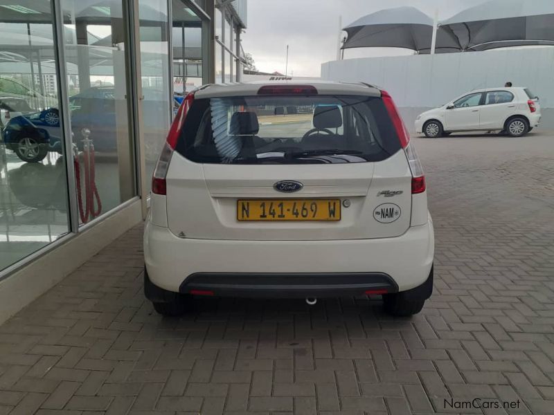
POLYGON ((175 293, 209 290, 205 284, 220 284, 218 292, 233 291, 237 296, 247 291, 256 296, 271 292, 271 297, 299 290, 305 290, 298 293, 301 297, 316 291, 332 291, 335 296, 339 290, 348 295, 385 288, 407 291, 429 277, 434 231, 429 216, 425 225, 412 226, 394 238, 218 241, 179 238, 147 221, 144 257, 152 284, 175 293))

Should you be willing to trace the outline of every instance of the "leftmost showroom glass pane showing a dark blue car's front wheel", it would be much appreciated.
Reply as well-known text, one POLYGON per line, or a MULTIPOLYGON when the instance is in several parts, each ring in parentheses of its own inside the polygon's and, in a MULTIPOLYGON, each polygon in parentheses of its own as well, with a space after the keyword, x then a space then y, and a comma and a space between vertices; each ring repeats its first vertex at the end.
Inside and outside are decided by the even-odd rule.
POLYGON ((0 3, 0 270, 69 232, 51 8, 0 3))

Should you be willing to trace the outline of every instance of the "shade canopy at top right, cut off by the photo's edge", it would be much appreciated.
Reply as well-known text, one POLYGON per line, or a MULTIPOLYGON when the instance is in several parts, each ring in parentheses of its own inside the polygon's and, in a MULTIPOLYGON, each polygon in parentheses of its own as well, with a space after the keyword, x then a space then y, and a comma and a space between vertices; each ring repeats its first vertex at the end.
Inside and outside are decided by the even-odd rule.
POLYGON ((492 0, 440 22, 463 50, 554 44, 553 0, 492 0))

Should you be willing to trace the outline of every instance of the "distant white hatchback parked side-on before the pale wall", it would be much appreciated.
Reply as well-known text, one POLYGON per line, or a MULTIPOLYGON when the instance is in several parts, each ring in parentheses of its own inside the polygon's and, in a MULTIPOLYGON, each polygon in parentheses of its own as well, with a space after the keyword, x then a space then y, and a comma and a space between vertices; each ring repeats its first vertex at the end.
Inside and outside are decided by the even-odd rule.
POLYGON ((420 114, 415 131, 429 138, 459 131, 502 131, 520 137, 540 121, 539 98, 529 89, 479 89, 420 114))

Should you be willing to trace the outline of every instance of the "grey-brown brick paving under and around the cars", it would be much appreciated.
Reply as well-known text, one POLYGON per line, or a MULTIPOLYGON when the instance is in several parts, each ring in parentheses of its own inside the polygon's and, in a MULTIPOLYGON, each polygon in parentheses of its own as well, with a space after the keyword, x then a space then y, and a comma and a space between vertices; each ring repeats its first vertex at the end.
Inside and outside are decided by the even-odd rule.
POLYGON ((553 414, 554 138, 416 144, 436 230, 419 315, 211 299, 164 320, 138 227, 0 326, 0 414, 553 414), (474 398, 519 409, 445 404, 474 398))

